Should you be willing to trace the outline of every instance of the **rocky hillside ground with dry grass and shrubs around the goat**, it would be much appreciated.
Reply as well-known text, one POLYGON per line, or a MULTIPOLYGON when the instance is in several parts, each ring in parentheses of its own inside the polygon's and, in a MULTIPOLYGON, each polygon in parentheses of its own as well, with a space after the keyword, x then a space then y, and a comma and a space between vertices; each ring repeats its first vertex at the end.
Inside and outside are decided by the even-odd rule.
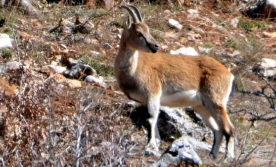
POLYGON ((249 4, 235 0, 134 4, 161 52, 207 54, 235 75, 228 110, 236 158, 224 158, 224 144, 209 158, 213 134, 190 108, 162 108, 160 150, 145 152, 146 110, 113 77, 128 13, 42 3, 35 15, 0 8, 0 164, 275 166, 275 21, 249 18, 249 4))

